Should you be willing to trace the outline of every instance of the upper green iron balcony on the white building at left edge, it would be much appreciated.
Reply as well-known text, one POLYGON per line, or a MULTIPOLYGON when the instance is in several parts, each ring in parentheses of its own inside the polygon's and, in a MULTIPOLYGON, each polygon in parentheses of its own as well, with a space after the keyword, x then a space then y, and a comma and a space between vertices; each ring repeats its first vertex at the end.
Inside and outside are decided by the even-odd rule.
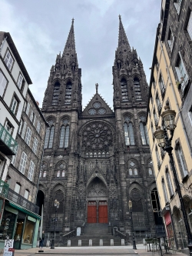
POLYGON ((18 143, 0 123, 0 151, 5 155, 15 155, 17 148, 18 143))

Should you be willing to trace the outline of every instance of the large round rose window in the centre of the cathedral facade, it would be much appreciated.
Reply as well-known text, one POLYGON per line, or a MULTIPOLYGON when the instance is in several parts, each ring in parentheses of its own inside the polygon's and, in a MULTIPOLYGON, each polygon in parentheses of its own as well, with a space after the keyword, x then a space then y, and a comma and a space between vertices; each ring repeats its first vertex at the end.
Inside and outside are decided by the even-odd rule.
POLYGON ((86 148, 88 154, 92 152, 108 151, 108 147, 112 145, 112 131, 108 125, 103 123, 94 123, 87 125, 82 132, 83 146, 86 148))

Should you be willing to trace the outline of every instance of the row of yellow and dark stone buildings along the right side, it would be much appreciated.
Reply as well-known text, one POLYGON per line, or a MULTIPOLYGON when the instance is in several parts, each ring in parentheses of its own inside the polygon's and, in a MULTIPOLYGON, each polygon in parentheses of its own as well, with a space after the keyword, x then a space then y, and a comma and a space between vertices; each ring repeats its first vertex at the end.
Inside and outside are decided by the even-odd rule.
MULTIPOLYGON (((163 1, 161 23, 157 28, 148 101, 147 130, 151 145, 161 214, 167 237, 177 248, 187 248, 187 234, 180 210, 170 158, 154 139, 157 126, 164 128, 161 114, 166 105, 176 111, 176 125, 172 139, 174 166, 184 199, 187 218, 192 230, 191 190, 191 1, 163 1)), ((170 134, 168 134, 170 138, 170 134)))

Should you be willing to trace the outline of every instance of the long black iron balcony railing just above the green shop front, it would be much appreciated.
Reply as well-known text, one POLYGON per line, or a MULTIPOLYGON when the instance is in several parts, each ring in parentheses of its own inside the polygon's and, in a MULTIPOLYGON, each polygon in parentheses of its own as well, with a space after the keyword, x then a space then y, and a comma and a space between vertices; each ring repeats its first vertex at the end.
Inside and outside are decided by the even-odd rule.
POLYGON ((15 204, 18 204, 19 206, 22 206, 23 208, 34 212, 35 214, 38 214, 39 207, 36 204, 33 204, 31 201, 28 201, 28 199, 22 197, 22 195, 16 193, 11 188, 8 188, 8 195, 6 198, 15 204))

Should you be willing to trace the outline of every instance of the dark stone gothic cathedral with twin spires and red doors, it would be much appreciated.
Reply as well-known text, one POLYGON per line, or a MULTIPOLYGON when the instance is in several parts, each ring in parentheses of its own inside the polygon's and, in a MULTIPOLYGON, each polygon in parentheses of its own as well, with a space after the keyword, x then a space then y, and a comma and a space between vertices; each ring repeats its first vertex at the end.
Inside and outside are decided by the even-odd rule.
MULTIPOLYGON (((145 124, 148 85, 141 59, 119 17, 113 73, 114 109, 98 93, 82 111, 81 68, 74 20, 63 54, 51 67, 42 112, 48 121, 38 197, 45 232, 65 234, 88 223, 108 223, 135 237, 154 234, 151 191, 156 187, 145 124)), ((109 78, 110 79, 110 78, 109 78)))

